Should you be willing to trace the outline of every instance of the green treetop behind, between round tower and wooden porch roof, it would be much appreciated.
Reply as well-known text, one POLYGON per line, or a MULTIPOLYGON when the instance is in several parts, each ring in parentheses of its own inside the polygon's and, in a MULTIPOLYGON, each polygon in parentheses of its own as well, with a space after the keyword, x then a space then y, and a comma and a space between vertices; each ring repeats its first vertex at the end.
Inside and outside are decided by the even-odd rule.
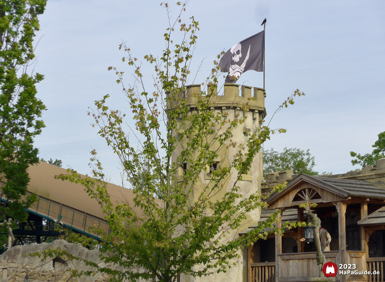
POLYGON ((294 174, 306 173, 309 175, 318 175, 318 171, 314 171, 315 166, 314 156, 311 155, 310 150, 306 151, 291 148, 283 149, 283 152, 262 149, 263 152, 263 176, 266 174, 285 171, 292 169, 294 174))

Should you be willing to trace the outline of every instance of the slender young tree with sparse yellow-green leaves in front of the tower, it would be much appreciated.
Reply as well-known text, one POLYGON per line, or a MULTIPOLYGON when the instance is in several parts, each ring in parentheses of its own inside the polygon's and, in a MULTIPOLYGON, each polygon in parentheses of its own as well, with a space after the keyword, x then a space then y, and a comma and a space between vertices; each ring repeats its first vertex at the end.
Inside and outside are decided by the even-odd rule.
MULTIPOLYGON (((187 114, 190 108, 184 88, 189 78, 189 65, 199 28, 194 17, 191 17, 190 24, 181 22, 185 5, 178 5, 182 7, 176 21, 172 22, 169 16, 170 26, 164 34, 166 48, 160 59, 153 55, 144 56, 145 61, 155 69, 151 82, 153 87, 147 89, 141 65, 125 44, 121 44, 120 49, 127 53, 123 62, 128 61, 133 68, 133 81, 126 85, 124 73, 115 67, 109 68, 118 75, 117 83, 122 85, 133 113, 135 124, 130 126, 131 134, 124 130, 125 114, 108 108, 109 95, 95 101, 97 110, 89 112, 95 119, 94 126, 99 128, 99 135, 105 138, 123 164, 124 175, 132 186, 135 207, 124 201, 114 203, 110 198, 106 176, 95 150, 91 152, 94 166, 92 177, 83 177, 73 170, 57 176, 82 184, 107 214, 108 232, 94 230, 103 234, 101 259, 107 265, 119 265, 125 271, 100 267, 92 261, 86 263, 96 270, 111 274, 111 281, 144 278, 171 282, 176 281, 179 273, 206 276, 225 272, 239 258, 241 248, 267 235, 267 232, 259 233, 263 228, 281 232, 272 225, 276 212, 245 236, 236 236, 248 212, 266 206, 258 192, 241 193, 239 181, 251 169, 261 145, 272 131, 268 127, 259 128, 248 133, 244 143, 237 144, 233 140, 233 133, 242 126, 245 117, 230 120, 222 113, 211 110, 216 99, 214 89, 221 75, 220 55, 205 82, 206 86, 210 86, 208 92, 194 95, 196 112, 187 114), (179 44, 174 42, 173 36, 177 36, 173 33, 175 29, 181 31, 179 44), (208 135, 213 136, 215 142, 207 142, 208 135), (130 142, 129 136, 136 136, 137 139, 130 142), (137 142, 139 149, 133 146, 137 142), (171 159, 172 153, 182 142, 184 148, 180 155, 171 159), (200 194, 194 194, 193 188, 200 173, 214 163, 219 150, 224 148, 228 153, 229 147, 236 150, 229 165, 218 166, 211 173, 209 184, 200 194), (185 163, 189 164, 188 168, 178 174, 185 163), (236 178, 234 185, 223 191, 222 187, 230 175, 236 178), (140 208, 141 212, 135 213, 134 208, 140 208), (131 271, 129 268, 133 266, 146 271, 131 271)), ((168 13, 168 5, 165 6, 168 13)), ((303 93, 296 90, 281 107, 293 104, 294 96, 300 95, 303 93)), ((237 106, 242 110, 249 107, 248 103, 237 106)), ((50 251, 49 254, 78 259, 63 250, 50 251)))

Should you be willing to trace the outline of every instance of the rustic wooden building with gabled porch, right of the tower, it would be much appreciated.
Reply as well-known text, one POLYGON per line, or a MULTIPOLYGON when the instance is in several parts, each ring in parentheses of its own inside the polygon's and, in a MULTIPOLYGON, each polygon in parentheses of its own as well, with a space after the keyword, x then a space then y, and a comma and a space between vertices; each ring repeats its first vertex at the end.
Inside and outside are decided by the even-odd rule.
MULTIPOLYGON (((364 180, 337 179, 330 176, 300 174, 281 193, 267 199, 271 210, 262 212, 260 221, 280 210, 278 227, 284 221, 306 221, 307 212, 299 208, 309 202, 317 204, 313 213, 321 219, 332 240, 327 261, 333 261, 343 271, 376 270, 379 275, 340 275, 336 281, 385 281, 385 187, 364 180)), ((354 177, 350 177, 354 178, 354 177)), ((355 177, 357 178, 357 177, 355 177)), ((242 233, 255 228, 249 227, 242 233)), ((310 281, 318 276, 314 243, 305 243, 303 228, 285 230, 283 236, 271 234, 248 249, 249 282, 310 281)))

